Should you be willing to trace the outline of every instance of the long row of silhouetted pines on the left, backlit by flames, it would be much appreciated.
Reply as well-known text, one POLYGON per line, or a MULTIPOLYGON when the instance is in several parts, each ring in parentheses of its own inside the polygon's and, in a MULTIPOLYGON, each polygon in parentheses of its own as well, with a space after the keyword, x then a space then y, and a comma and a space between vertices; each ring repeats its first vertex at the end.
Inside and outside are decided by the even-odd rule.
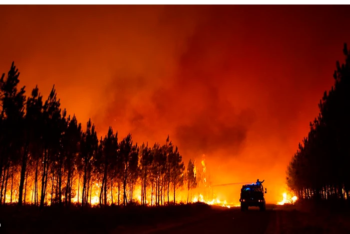
POLYGON ((61 109, 55 85, 47 99, 38 86, 27 97, 19 75, 13 62, 0 79, 0 205, 70 205, 77 197, 84 206, 96 188, 100 205, 126 205, 136 186, 141 204, 160 205, 174 203, 179 188, 196 187, 194 162, 185 171, 169 136, 164 145, 137 145, 131 134, 118 141, 109 127, 99 139, 90 119, 83 130, 61 109))

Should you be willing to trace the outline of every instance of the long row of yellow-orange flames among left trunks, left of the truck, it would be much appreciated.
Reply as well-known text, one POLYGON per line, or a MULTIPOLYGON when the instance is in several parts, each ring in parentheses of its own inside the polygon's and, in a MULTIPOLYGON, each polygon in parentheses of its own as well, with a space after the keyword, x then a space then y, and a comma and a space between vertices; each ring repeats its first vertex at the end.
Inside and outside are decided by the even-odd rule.
MULTIPOLYGON (((201 161, 199 166, 195 166, 195 175, 198 176, 196 178, 197 180, 197 186, 194 188, 191 188, 190 190, 186 189, 186 187, 179 187, 176 188, 176 192, 174 194, 173 187, 167 188, 166 184, 162 185, 162 183, 158 183, 159 188, 157 189, 156 182, 153 182, 152 184, 148 184, 145 192, 145 195, 143 195, 143 187, 140 184, 140 180, 136 182, 136 184, 133 184, 132 187, 130 187, 128 184, 125 189, 125 195, 126 195, 126 203, 132 203, 132 204, 146 204, 149 206, 152 205, 167 205, 167 204, 173 204, 174 199, 175 203, 194 203, 194 202, 203 202, 208 205, 214 205, 214 206, 222 206, 222 207, 233 207, 233 206, 240 206, 239 203, 233 203, 233 202, 227 202, 226 200, 223 200, 223 197, 217 195, 213 192, 210 184, 210 176, 208 174, 208 169, 206 168, 204 159, 201 161), (185 189, 184 189, 185 188, 185 189), (160 194, 159 194, 160 193, 160 194), (190 193, 190 195, 189 195, 190 193), (195 194, 195 196, 192 196, 192 194, 195 194), (174 197, 175 196, 175 197, 174 197), (190 200, 188 200, 188 197, 191 197, 190 200), (169 199, 171 198, 171 199, 169 199), (158 200, 157 200, 158 199, 158 200)), ((70 198, 70 202, 73 204, 79 205, 82 200, 82 194, 83 194, 83 181, 81 178, 81 175, 79 173, 74 174, 74 179, 72 179, 72 194, 70 198)), ((30 181, 34 181, 33 175, 27 175, 28 178, 28 184, 26 184, 24 189, 24 197, 23 202, 25 204, 36 204, 39 205, 40 198, 41 198, 41 181, 38 180, 38 184, 32 183, 30 181)), ((47 191, 45 193, 45 201, 44 205, 51 205, 52 202, 59 202, 58 197, 58 186, 56 182, 57 177, 52 177, 50 180, 48 180, 47 184, 47 191)), ((19 186, 20 181, 20 174, 17 173, 14 175, 13 183, 14 187, 19 186)), ((27 180, 26 180, 27 181, 27 180)), ((109 184, 107 186, 107 195, 106 200, 104 200, 104 188, 102 187, 102 181, 101 177, 95 176, 91 177, 89 181, 86 184, 85 187, 85 193, 84 193, 84 202, 85 205, 91 205, 91 206, 99 206, 100 202, 101 205, 112 205, 112 204, 120 204, 122 205, 124 202, 124 191, 123 189, 118 190, 118 183, 115 182, 114 186, 111 186, 112 184, 109 184)), ((8 185, 9 187, 10 185, 8 185)), ((12 185, 11 185, 12 186, 12 185)), ((170 184, 171 186, 171 184, 170 184)), ((63 203, 65 203, 66 197, 65 197, 65 184, 63 187, 61 187, 61 193, 62 197, 61 200, 63 203)), ((19 199, 18 190, 14 188, 13 190, 5 188, 5 191, 3 193, 4 200, 6 203, 17 203, 19 199)))

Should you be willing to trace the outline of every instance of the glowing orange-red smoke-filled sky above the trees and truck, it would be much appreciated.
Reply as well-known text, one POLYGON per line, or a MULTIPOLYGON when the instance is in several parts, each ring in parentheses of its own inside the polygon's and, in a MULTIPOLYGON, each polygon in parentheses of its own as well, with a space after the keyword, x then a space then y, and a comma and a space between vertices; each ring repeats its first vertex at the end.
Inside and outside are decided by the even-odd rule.
MULTIPOLYGON (((281 199, 286 166, 350 42, 348 6, 0 6, 0 71, 14 60, 29 93, 53 84, 99 134, 164 143, 185 164, 205 154, 213 183, 265 179, 281 199)), ((217 193, 238 200, 239 185, 217 193)))

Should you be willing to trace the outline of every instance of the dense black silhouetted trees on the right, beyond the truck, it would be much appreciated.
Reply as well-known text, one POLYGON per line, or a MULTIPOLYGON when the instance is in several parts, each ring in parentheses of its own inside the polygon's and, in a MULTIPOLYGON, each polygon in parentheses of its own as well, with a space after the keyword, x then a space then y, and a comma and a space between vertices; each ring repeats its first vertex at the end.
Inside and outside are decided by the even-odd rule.
POLYGON ((336 62, 334 85, 324 91, 319 114, 287 167, 287 185, 301 199, 349 198, 350 190, 350 51, 336 62))

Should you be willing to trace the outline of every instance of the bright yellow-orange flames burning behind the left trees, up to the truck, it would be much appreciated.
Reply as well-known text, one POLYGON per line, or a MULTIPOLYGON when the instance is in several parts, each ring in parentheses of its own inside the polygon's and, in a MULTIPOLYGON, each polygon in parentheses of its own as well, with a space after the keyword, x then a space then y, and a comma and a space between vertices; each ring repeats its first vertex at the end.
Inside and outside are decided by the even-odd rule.
MULTIPOLYGON (((203 202, 208 205, 216 205, 216 206, 223 206, 223 207, 233 207, 233 206, 240 206, 239 203, 228 203, 226 200, 223 200, 222 197, 218 197, 212 190, 211 188, 211 180, 210 180, 210 173, 208 168, 206 168, 206 163, 205 159, 203 158, 198 163, 198 165, 195 165, 194 168, 194 174, 195 176, 198 176, 198 186, 195 187, 194 189, 187 190, 183 188, 179 188, 176 190, 176 197, 175 197, 175 202, 176 203, 187 203, 188 202, 203 202), (190 195, 189 195, 190 194, 190 195), (188 197, 191 197, 189 200, 188 197)), ((34 180, 34 178, 29 175, 28 176, 28 181, 34 180)), ((55 179, 55 177, 54 177, 55 179)), ((15 186, 18 186, 18 181, 19 181, 19 175, 16 175, 14 177, 14 184, 15 186)), ((51 182, 51 181, 50 181, 51 182)), ((37 185, 39 187, 39 192, 35 192, 35 184, 34 183, 28 183, 27 189, 25 189, 24 193, 24 202, 25 203, 37 203, 40 201, 40 184, 37 185)), ((82 201, 82 191, 83 191, 83 186, 82 186, 82 180, 79 178, 76 178, 74 185, 72 186, 75 188, 75 192, 73 193, 73 196, 71 198, 71 201, 73 203, 80 203, 82 201)), ((89 189, 87 188, 86 192, 88 192, 88 198, 87 202, 91 205, 98 205, 100 203, 100 196, 101 196, 101 189, 102 189, 102 183, 99 179, 92 179, 90 183, 89 189)), ((120 198, 120 202, 123 203, 123 191, 120 191, 120 195, 118 195, 118 189, 117 186, 115 185, 113 187, 113 190, 110 190, 111 188, 108 188, 108 194, 107 194, 107 204, 117 204, 118 203, 118 198, 120 198)), ((145 202, 147 205, 156 205, 156 198, 155 198, 155 190, 152 190, 150 187, 147 188, 146 190, 146 197, 142 197, 142 188, 139 183, 135 184, 133 187, 133 192, 130 193, 129 188, 127 188, 126 195, 128 197, 128 202, 132 201, 138 204, 141 204, 145 202)), ((7 189, 5 192, 6 197, 4 197, 4 200, 6 203, 16 203, 18 202, 18 190, 14 189, 13 192, 11 192, 11 189, 7 189)), ((86 196, 86 194, 85 194, 86 196)), ((168 198, 168 194, 166 189, 162 191, 161 194, 161 202, 160 204, 167 204, 168 200, 169 202, 173 202, 174 197, 173 197, 173 192, 172 190, 170 191, 170 195, 168 198)), ((103 198, 103 197, 102 197, 103 198)), ((45 196, 45 204, 50 205, 52 200, 57 200, 57 197, 55 195, 55 187, 53 185, 48 185, 48 189, 46 191, 46 196, 45 196)), ((62 196, 62 200, 64 200, 64 192, 62 196)), ((103 199, 102 199, 103 200, 103 199)))

